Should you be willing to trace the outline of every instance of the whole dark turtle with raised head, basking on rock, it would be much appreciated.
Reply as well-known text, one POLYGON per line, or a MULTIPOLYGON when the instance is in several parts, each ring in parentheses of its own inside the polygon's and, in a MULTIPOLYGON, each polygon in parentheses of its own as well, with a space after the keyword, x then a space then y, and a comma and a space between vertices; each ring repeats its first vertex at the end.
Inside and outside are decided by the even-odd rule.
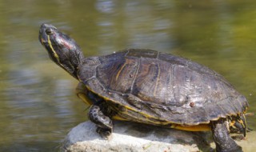
POLYGON ((189 59, 156 50, 126 49, 84 57, 80 46, 43 23, 39 42, 50 59, 78 80, 88 118, 108 138, 113 120, 187 131, 211 131, 217 151, 242 151, 230 128, 246 136, 245 96, 220 74, 189 59))

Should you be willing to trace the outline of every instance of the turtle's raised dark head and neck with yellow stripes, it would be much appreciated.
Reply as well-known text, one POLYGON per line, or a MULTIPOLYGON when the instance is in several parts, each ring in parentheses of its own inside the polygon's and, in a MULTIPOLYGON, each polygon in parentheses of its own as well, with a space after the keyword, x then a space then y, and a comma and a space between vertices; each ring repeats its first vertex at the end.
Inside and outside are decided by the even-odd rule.
POLYGON ((78 65, 84 57, 74 39, 58 31, 52 25, 42 24, 39 30, 39 42, 45 46, 52 61, 74 78, 78 78, 78 65))

